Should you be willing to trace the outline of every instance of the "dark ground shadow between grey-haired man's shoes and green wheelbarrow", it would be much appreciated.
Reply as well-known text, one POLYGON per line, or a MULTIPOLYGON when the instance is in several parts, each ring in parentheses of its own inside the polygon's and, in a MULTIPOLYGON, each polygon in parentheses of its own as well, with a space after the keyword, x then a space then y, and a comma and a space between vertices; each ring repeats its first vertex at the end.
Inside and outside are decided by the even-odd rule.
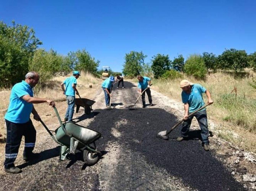
POLYGON ((47 160, 50 158, 54 158, 59 155, 60 155, 60 146, 57 146, 55 148, 51 148, 51 149, 42 151, 41 153, 37 153, 36 159, 34 159, 33 161, 25 162, 24 164, 21 164, 17 167, 19 167, 20 169, 23 169, 27 166, 37 164, 38 162, 41 162, 41 161, 44 161, 44 160, 47 160))

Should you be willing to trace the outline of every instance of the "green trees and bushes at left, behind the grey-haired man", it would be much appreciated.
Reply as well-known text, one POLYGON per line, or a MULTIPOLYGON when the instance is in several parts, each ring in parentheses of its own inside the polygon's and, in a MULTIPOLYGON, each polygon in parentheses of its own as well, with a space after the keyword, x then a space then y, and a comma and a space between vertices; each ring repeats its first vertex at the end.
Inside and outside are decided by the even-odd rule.
MULTIPOLYGON (((72 70, 97 75, 100 61, 95 60, 85 49, 70 51, 67 56, 42 45, 32 28, 12 22, 12 26, 0 21, 0 88, 10 88, 20 82, 28 71, 40 73, 40 83, 45 83, 56 72, 72 70)), ((38 84, 40 87, 40 84, 38 84)))

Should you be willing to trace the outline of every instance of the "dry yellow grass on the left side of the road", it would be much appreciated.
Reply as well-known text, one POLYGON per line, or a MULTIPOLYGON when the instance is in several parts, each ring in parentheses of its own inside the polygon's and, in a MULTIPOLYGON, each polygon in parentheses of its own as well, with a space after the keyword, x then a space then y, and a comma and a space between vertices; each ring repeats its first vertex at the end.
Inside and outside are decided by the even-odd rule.
MULTIPOLYGON (((38 95, 34 95, 35 97, 55 100, 56 108, 61 116, 65 113, 66 99, 65 95, 62 94, 60 83, 62 83, 66 77, 67 76, 54 77, 47 83, 45 89, 41 90, 38 95)), ((95 78, 91 74, 81 73, 81 76, 78 78, 77 89, 81 97, 93 99, 101 83, 102 80, 95 78), (89 85, 92 85, 92 88, 90 88, 89 85)), ((0 102, 0 134, 3 135, 3 137, 0 137, 0 143, 3 142, 3 138, 6 137, 4 116, 9 105, 10 92, 10 90, 0 91, 0 96, 2 97, 2 101, 0 102)), ((55 116, 54 111, 47 106, 46 103, 34 104, 34 107, 45 123, 47 123, 47 121, 50 122, 52 120, 52 116, 55 116)), ((35 127, 40 125, 37 121, 33 121, 33 123, 35 127)))

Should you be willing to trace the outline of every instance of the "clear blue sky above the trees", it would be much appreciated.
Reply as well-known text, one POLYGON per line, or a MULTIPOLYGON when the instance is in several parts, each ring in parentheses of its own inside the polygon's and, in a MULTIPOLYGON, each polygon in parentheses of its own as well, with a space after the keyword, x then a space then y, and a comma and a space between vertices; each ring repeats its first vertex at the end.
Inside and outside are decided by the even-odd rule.
POLYGON ((121 72, 130 51, 152 56, 203 52, 221 54, 225 48, 256 51, 255 0, 6 0, 0 20, 28 25, 40 48, 66 55, 86 49, 121 72))

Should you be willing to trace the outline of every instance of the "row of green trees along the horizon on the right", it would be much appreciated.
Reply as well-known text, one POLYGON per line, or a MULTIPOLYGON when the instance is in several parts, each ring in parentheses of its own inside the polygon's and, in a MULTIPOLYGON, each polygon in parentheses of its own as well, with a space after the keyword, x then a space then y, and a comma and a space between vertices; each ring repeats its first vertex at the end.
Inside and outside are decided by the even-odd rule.
POLYGON ((204 79, 208 71, 233 70, 235 73, 243 71, 245 68, 256 70, 256 52, 247 54, 245 50, 234 48, 216 56, 213 53, 204 52, 190 55, 186 61, 182 54, 170 60, 169 55, 157 54, 153 56, 151 62, 145 63, 147 57, 142 51, 131 51, 125 55, 123 74, 134 77, 139 74, 154 74, 154 78, 175 78, 180 76, 180 72, 204 79))

